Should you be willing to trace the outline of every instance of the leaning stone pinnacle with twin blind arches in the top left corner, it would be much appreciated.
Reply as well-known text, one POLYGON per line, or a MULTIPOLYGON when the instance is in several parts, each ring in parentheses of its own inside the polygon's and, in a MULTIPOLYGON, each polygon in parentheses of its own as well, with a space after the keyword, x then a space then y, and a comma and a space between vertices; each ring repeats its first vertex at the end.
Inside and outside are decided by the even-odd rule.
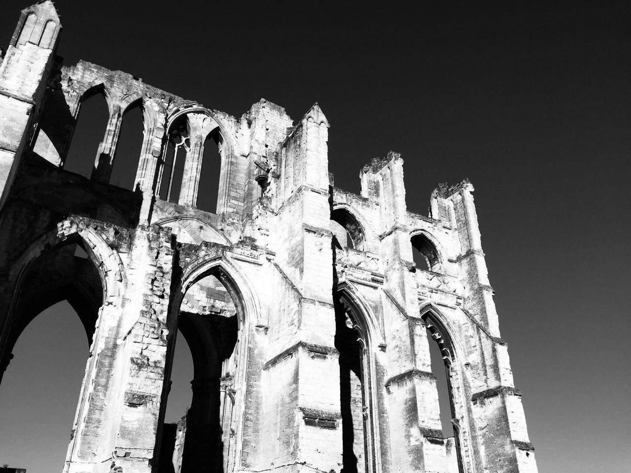
POLYGON ((0 63, 0 208, 37 124, 60 31, 52 1, 23 9, 0 63))

